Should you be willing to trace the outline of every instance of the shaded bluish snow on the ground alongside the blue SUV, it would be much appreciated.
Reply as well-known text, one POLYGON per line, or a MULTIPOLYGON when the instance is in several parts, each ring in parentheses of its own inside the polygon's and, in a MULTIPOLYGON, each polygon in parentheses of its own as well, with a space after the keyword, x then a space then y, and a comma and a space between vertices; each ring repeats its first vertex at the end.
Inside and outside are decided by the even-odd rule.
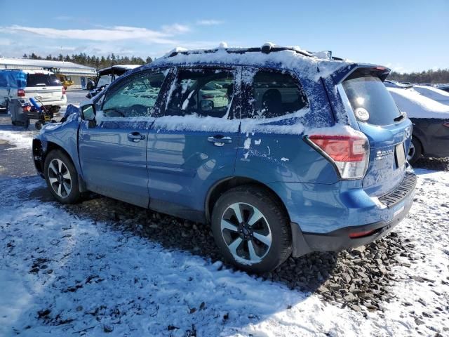
POLYGON ((21 336, 247 335, 311 295, 225 267, 206 225, 95 194, 57 204, 37 176, 0 181, 0 196, 4 267, 39 289, 3 327, 21 336))

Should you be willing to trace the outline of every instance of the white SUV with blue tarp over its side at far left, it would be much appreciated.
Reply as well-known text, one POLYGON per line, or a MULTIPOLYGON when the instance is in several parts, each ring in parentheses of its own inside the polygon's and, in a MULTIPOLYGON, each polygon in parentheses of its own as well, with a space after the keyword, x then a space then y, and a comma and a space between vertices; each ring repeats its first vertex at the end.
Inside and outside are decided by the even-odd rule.
POLYGON ((36 98, 41 105, 53 114, 67 104, 65 88, 53 72, 47 70, 1 70, 0 71, 0 106, 8 112, 11 100, 36 98), (17 79, 20 78, 20 83, 17 79))

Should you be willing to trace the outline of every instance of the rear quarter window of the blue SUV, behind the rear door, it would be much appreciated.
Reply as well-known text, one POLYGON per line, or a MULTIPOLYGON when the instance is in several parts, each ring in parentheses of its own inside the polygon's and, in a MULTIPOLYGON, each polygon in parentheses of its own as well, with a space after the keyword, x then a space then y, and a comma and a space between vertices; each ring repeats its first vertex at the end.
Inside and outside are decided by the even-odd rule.
POLYGON ((249 88, 250 114, 246 117, 272 118, 309 106, 307 97, 289 74, 260 70, 249 88))

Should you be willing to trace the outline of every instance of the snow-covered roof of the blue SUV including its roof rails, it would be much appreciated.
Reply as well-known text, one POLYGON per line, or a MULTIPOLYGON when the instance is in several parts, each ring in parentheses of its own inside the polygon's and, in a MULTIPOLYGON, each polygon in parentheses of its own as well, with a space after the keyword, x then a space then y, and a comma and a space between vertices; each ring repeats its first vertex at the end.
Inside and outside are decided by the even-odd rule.
POLYGON ((300 47, 281 47, 264 44, 255 48, 225 48, 187 50, 175 48, 147 67, 164 65, 250 65, 298 70, 303 77, 316 80, 328 77, 342 67, 353 64, 347 60, 332 58, 330 52, 310 53, 300 47))

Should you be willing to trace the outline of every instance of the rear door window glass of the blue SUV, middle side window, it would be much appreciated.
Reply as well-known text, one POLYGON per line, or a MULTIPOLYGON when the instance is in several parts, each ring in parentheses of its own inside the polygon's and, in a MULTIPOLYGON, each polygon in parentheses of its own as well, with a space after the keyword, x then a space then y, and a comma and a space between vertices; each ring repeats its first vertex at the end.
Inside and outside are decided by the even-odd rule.
POLYGON ((166 115, 227 117, 234 95, 234 72, 180 70, 167 103, 166 115))

